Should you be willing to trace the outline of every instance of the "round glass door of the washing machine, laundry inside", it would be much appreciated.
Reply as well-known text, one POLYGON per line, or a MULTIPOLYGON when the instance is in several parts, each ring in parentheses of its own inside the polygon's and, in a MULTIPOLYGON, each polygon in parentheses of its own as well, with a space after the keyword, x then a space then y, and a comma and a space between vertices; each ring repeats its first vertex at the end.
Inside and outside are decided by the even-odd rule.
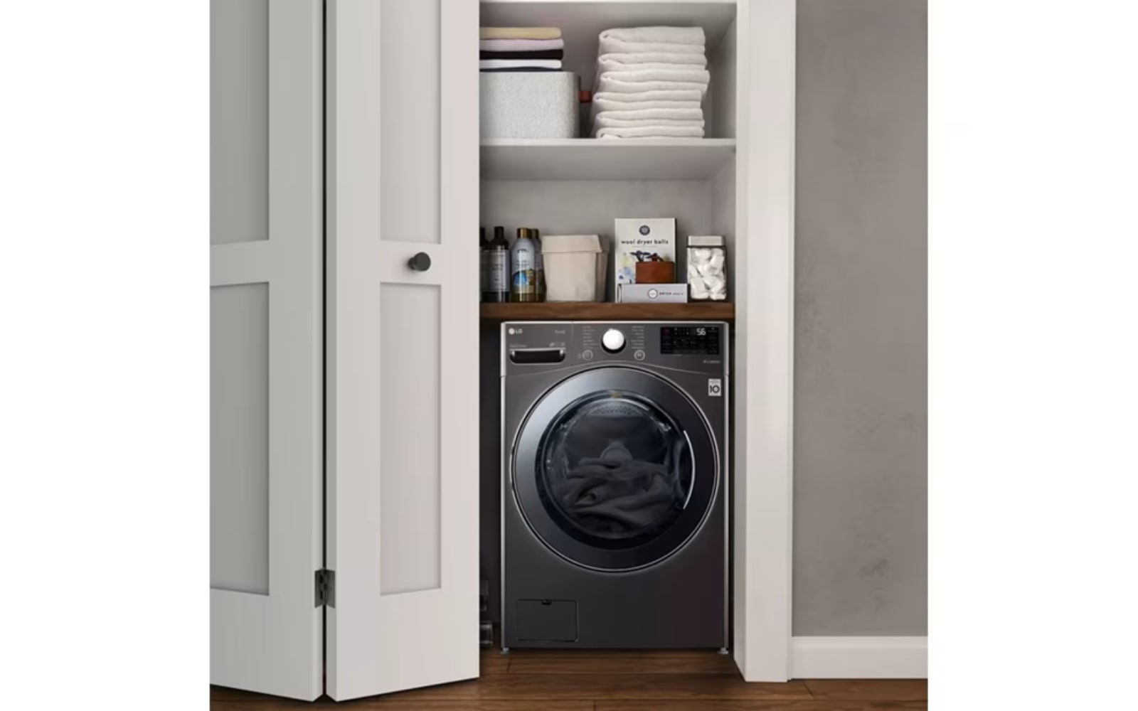
POLYGON ((657 563, 700 529, 719 486, 715 440, 667 380, 604 367, 558 383, 514 441, 514 494, 530 529, 599 570, 657 563))

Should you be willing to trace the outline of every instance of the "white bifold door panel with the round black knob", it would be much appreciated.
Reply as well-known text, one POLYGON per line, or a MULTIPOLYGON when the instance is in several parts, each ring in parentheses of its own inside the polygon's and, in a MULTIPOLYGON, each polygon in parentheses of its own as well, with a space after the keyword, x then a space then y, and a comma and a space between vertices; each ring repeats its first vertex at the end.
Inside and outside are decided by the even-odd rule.
POLYGON ((478 675, 478 2, 330 0, 328 23, 328 693, 346 700, 478 675))

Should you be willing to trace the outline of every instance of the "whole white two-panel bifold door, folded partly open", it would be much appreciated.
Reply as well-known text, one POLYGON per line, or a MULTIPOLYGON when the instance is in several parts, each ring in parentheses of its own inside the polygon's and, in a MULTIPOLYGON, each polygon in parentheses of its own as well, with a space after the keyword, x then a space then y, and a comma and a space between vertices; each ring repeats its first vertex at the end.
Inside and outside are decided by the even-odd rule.
POLYGON ((212 681, 476 677, 478 2, 212 11, 212 681))

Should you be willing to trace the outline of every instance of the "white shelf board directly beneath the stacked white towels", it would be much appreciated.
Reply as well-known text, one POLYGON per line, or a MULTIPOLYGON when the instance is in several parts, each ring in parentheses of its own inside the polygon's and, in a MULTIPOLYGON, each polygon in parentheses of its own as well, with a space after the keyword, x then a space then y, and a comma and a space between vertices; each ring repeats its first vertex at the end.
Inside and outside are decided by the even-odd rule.
POLYGON ((483 180, 707 180, 735 139, 484 139, 483 180))

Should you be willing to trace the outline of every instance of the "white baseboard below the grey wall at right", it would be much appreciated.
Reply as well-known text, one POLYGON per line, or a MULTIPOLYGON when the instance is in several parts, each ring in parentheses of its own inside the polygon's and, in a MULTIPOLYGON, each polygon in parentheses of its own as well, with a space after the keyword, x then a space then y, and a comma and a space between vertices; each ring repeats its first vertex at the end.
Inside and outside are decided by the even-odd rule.
POLYGON ((927 637, 791 637, 792 679, 926 679, 927 637))

